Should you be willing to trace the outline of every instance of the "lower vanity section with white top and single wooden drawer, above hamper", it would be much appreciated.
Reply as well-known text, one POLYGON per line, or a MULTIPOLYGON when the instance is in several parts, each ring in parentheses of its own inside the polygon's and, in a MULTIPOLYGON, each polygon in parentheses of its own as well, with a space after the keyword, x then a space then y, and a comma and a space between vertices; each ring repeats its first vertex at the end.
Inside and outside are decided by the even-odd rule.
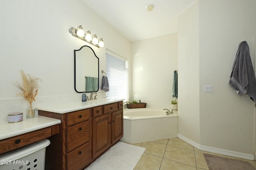
POLYGON ((59 132, 58 119, 43 116, 0 123, 0 154, 46 139, 59 132))

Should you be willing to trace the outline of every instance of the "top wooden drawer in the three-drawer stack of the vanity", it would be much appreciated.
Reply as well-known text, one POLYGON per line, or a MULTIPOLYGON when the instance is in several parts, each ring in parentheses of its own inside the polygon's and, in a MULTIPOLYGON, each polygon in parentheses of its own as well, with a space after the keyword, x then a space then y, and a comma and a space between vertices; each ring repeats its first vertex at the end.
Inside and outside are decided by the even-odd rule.
POLYGON ((66 114, 66 124, 67 126, 72 125, 74 123, 78 123, 80 121, 85 121, 89 119, 90 115, 90 109, 84 109, 84 110, 79 110, 79 111, 74 111, 72 113, 67 113, 66 114))

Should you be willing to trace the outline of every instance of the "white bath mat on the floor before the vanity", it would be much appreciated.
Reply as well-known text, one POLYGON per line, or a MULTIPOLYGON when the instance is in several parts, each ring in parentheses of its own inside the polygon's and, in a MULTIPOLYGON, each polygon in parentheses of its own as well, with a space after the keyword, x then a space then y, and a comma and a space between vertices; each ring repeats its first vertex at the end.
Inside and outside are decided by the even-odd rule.
POLYGON ((118 142, 85 170, 133 170, 145 148, 118 142))

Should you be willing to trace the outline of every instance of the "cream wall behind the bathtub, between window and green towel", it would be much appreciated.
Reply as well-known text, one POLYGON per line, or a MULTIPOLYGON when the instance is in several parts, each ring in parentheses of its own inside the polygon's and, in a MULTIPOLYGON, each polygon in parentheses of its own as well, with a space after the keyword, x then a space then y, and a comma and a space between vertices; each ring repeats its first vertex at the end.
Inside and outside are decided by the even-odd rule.
MULTIPOLYGON (((177 33, 132 43, 130 101, 170 109, 173 72, 177 70, 177 33)), ((129 68, 130 69, 130 68, 129 68)))

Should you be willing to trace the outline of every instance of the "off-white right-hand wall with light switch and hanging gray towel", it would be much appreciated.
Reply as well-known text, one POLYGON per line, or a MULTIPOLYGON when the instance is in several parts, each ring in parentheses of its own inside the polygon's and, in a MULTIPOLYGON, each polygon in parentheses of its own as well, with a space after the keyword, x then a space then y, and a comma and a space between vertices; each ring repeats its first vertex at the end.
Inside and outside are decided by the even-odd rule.
POLYGON ((179 17, 179 133, 202 146, 254 153, 254 102, 236 95, 228 82, 241 41, 248 42, 254 62, 255 7, 255 0, 199 0, 179 17), (186 69, 185 61, 194 63, 186 69), (213 92, 204 92, 204 85, 213 92))

